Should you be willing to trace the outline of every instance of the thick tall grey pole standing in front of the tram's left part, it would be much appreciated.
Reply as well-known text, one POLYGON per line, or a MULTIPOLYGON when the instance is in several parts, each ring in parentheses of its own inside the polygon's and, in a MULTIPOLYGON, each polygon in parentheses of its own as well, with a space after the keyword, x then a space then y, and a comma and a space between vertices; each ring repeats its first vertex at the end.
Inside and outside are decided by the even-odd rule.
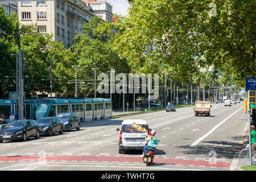
POLYGON ((23 119, 23 110, 24 110, 23 49, 19 49, 19 120, 23 119))

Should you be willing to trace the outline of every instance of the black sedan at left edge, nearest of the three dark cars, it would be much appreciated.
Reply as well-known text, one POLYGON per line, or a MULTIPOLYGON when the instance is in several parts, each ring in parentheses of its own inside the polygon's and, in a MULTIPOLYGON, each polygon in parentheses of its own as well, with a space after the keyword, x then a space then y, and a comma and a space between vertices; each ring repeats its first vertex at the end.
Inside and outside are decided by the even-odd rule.
POLYGON ((30 137, 40 137, 39 125, 34 120, 13 121, 0 130, 0 142, 17 139, 26 141, 30 137))

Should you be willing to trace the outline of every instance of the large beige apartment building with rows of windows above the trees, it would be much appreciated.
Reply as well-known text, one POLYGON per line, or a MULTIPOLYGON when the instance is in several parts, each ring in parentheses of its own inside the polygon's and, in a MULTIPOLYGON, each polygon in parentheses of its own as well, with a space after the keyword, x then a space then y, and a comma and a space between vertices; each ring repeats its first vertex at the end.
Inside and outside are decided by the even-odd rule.
POLYGON ((80 0, 18 0, 19 22, 36 23, 39 33, 52 34, 65 48, 73 45, 73 38, 82 33, 82 24, 93 16, 92 9, 80 0))

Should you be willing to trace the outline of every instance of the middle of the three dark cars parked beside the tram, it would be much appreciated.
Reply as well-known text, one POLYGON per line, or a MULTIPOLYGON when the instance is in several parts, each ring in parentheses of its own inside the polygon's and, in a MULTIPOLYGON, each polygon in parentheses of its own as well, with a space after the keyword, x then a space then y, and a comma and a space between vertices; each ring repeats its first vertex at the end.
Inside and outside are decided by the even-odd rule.
POLYGON ((36 122, 39 125, 40 134, 42 135, 52 136, 54 133, 63 134, 64 123, 59 118, 38 118, 36 122))

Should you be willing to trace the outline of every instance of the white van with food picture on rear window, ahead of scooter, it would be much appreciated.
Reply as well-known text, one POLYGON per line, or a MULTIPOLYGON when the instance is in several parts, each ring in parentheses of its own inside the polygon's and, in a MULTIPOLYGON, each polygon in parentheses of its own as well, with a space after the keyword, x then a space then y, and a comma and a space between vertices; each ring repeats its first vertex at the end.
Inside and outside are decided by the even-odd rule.
POLYGON ((119 131, 119 154, 123 150, 143 150, 146 145, 145 139, 149 137, 149 129, 147 122, 142 119, 126 119, 123 120, 119 131))

